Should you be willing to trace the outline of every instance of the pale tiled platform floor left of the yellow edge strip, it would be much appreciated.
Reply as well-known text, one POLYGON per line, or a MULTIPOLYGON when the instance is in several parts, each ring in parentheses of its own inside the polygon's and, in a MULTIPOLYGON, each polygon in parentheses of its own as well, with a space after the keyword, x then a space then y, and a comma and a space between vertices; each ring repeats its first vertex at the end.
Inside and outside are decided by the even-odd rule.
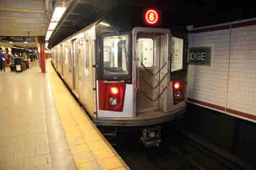
POLYGON ((37 61, 23 72, 1 72, 0 96, 0 169, 76 169, 37 61))

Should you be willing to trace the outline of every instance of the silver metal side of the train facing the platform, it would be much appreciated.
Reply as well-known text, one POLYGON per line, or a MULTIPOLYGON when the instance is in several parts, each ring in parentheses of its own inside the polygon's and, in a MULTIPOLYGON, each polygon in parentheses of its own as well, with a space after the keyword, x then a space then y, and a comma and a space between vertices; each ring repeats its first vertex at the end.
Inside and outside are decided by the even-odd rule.
POLYGON ((77 47, 74 48, 74 53, 78 57, 78 93, 76 95, 87 112, 94 116, 96 111, 95 27, 89 27, 53 48, 53 64, 59 75, 63 76, 64 81, 74 92, 75 61, 72 58, 72 40, 77 43, 77 47))

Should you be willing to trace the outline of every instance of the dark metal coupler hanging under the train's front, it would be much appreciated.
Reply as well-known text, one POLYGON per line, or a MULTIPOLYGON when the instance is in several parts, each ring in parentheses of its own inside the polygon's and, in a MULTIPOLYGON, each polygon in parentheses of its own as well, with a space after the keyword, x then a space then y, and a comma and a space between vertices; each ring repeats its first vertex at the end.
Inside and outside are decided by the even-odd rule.
POLYGON ((145 145, 145 147, 157 146, 161 143, 161 127, 160 126, 150 126, 140 128, 141 137, 140 141, 145 145))

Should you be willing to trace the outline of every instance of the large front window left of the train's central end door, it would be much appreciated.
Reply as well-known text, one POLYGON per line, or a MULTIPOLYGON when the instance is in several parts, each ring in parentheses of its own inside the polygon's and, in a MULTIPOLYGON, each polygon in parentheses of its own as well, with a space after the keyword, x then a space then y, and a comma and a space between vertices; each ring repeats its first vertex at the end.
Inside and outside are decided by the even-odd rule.
POLYGON ((104 74, 129 74, 128 44, 127 35, 103 37, 104 74))

